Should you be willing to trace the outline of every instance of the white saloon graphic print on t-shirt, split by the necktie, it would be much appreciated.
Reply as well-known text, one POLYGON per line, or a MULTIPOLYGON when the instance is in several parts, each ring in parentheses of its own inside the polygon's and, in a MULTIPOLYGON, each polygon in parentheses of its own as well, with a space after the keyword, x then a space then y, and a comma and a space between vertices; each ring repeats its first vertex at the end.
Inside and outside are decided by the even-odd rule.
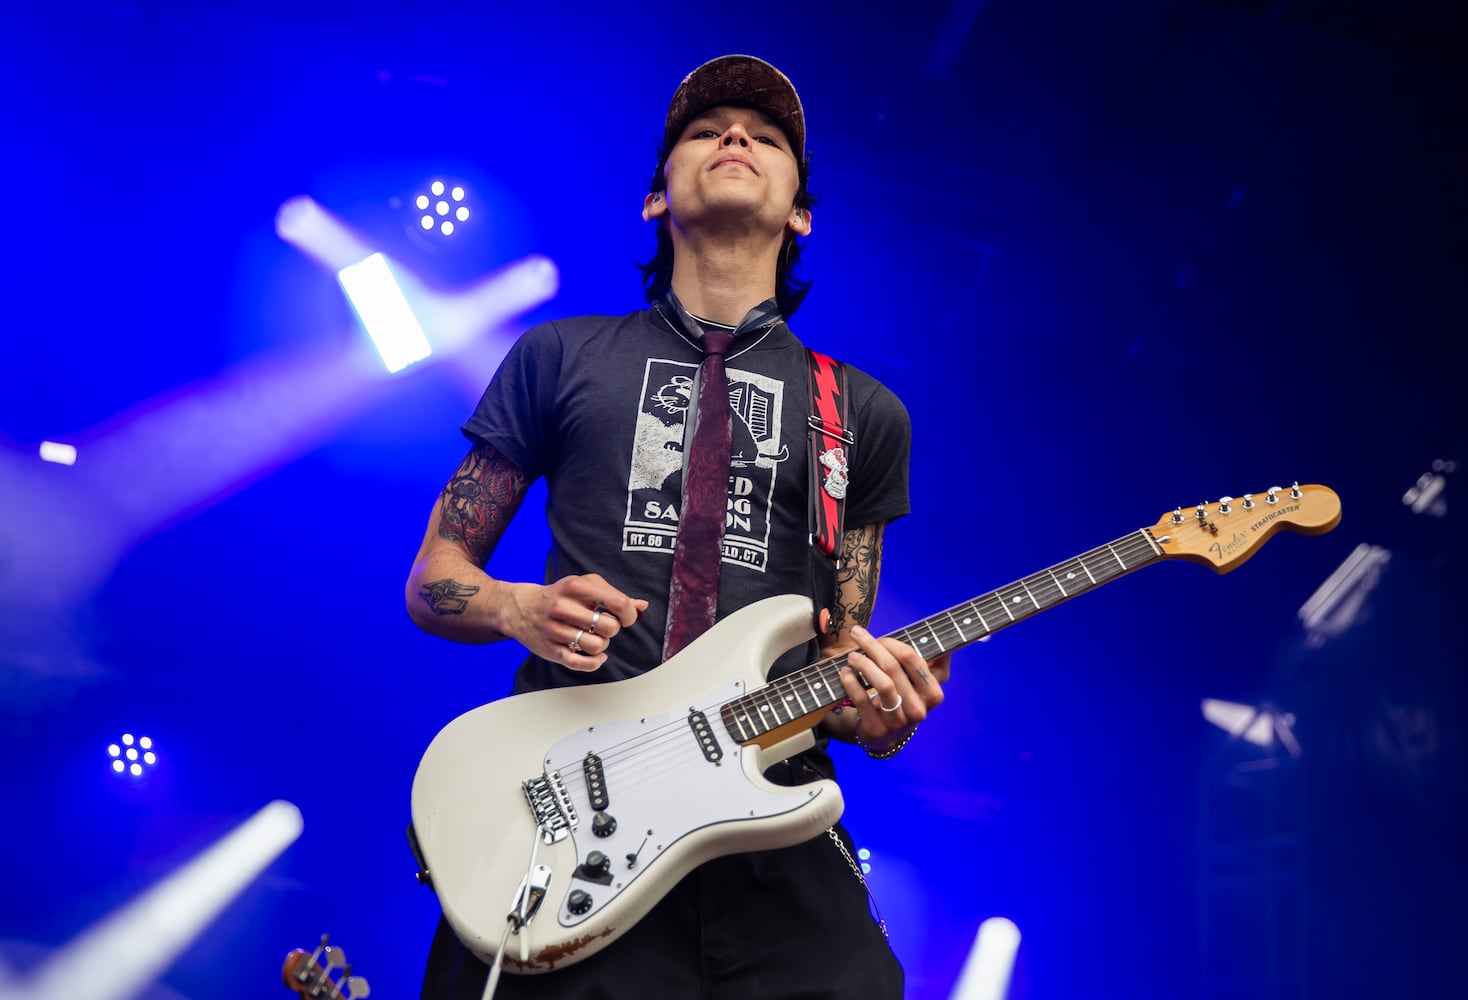
MULTIPOLYGON (((628 474, 625 552, 672 555, 683 502, 683 430, 697 370, 680 361, 647 361, 628 474)), ((780 441, 785 383, 733 367, 728 380, 734 423, 724 561, 763 573, 777 474, 790 457, 780 441)))

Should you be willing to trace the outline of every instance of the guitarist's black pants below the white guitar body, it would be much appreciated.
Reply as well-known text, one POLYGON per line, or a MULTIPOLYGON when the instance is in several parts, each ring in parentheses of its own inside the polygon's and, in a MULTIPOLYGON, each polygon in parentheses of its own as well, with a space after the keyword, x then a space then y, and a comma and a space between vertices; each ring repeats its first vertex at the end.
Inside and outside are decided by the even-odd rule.
MULTIPOLYGON (((847 850, 851 841, 837 827, 847 850)), ((480 1000, 489 968, 439 921, 423 1000, 480 1000)), ((583 962, 495 1000, 900 1000, 903 969, 829 836, 711 860, 583 962)))

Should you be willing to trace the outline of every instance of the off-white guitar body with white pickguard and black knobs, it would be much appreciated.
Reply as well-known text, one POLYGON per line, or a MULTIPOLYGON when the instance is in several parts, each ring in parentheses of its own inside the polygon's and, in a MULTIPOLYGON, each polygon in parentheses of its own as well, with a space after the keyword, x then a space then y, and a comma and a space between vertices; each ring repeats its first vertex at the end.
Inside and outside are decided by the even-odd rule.
POLYGON ((835 783, 782 787, 762 777, 812 744, 809 730, 824 711, 774 733, 768 746, 741 746, 719 718, 722 705, 765 686, 769 665, 812 634, 807 599, 769 598, 640 677, 518 695, 449 722, 414 777, 413 825, 464 946, 495 960, 533 866, 548 884, 536 915, 508 938, 504 963, 512 972, 595 954, 705 860, 787 847, 835 822, 835 783), (706 725, 690 718, 693 709, 706 725), (589 753, 603 778, 600 809, 589 753), (562 808, 531 806, 524 783, 537 780, 562 808), (561 825, 555 843, 540 828, 545 815, 561 825), (583 868, 592 852, 608 859, 605 871, 583 868))

